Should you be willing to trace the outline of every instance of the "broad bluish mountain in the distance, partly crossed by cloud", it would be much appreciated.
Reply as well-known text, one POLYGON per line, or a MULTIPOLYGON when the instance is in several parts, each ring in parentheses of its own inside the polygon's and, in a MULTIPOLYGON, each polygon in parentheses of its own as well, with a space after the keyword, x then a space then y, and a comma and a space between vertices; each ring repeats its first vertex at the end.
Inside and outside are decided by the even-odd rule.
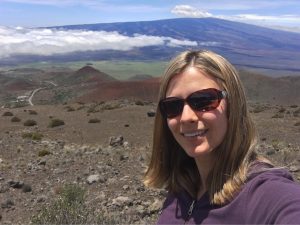
MULTIPOLYGON (((117 31, 127 36, 143 34, 196 41, 198 46, 193 48, 216 51, 240 67, 300 73, 300 34, 250 24, 215 18, 180 18, 142 22, 70 25, 56 28, 117 31)), ((169 60, 178 51, 186 48, 163 45, 142 47, 126 52, 106 50, 89 52, 86 57, 169 60)))

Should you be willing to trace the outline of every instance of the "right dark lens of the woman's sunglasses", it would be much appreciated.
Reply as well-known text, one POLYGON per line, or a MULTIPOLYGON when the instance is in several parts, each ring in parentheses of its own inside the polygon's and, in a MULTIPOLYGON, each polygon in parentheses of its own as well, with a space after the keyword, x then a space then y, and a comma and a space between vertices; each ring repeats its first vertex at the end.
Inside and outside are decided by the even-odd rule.
POLYGON ((190 95, 188 104, 197 111, 209 111, 218 107, 220 100, 214 90, 198 91, 190 95))

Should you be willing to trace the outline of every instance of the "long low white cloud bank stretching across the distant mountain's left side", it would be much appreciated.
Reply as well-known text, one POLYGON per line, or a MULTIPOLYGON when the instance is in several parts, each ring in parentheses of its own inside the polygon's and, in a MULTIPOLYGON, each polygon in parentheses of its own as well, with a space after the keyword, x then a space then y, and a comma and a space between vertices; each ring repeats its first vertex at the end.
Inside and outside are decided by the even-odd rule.
POLYGON ((120 50, 156 45, 196 46, 197 42, 170 37, 118 32, 0 27, 0 57, 19 54, 53 55, 75 51, 120 50))

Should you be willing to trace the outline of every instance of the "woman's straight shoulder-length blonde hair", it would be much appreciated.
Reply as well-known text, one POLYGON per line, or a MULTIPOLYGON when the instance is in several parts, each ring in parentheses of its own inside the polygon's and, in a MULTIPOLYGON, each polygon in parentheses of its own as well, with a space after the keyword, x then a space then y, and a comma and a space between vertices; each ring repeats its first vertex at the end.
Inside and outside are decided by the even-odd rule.
MULTIPOLYGON (((211 51, 185 51, 175 57, 162 77, 159 100, 166 97, 170 80, 187 67, 198 68, 216 78, 221 89, 227 92, 227 132, 214 150, 216 160, 207 178, 211 203, 222 205, 240 190, 251 163, 258 158, 254 151, 254 124, 237 71, 226 59, 211 51)), ((159 108, 155 117, 152 156, 144 183, 173 193, 187 191, 193 197, 197 197, 201 186, 194 158, 189 157, 174 139, 159 108)))

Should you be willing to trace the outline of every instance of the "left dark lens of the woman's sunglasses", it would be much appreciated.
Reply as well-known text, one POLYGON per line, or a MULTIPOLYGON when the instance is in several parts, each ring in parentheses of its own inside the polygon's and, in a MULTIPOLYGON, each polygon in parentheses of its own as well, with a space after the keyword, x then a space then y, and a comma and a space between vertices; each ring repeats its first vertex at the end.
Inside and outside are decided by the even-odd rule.
POLYGON ((183 100, 176 98, 165 99, 160 102, 161 111, 168 118, 180 115, 182 112, 183 105, 183 100))

